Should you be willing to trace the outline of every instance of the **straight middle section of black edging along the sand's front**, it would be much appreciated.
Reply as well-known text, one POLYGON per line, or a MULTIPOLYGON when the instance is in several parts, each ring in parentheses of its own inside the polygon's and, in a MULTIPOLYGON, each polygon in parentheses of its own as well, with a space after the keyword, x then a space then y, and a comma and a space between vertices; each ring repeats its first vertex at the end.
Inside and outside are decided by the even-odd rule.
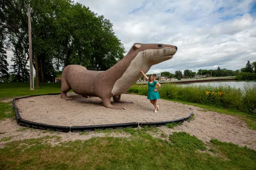
POLYGON ((71 126, 71 132, 81 132, 81 131, 93 131, 95 129, 123 129, 125 127, 128 128, 136 128, 139 126, 138 122, 131 123, 118 123, 118 124, 101 124, 101 125, 91 125, 91 126, 71 126))

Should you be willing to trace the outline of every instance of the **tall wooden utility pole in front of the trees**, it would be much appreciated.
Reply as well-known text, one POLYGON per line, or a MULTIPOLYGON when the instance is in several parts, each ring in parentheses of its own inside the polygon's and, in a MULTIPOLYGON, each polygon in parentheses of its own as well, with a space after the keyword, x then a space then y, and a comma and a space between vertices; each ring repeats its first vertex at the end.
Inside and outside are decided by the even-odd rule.
POLYGON ((34 74, 33 74, 33 59, 32 59, 32 39, 31 39, 31 16, 30 5, 27 6, 27 15, 29 17, 29 63, 30 63, 30 90, 34 90, 34 74))

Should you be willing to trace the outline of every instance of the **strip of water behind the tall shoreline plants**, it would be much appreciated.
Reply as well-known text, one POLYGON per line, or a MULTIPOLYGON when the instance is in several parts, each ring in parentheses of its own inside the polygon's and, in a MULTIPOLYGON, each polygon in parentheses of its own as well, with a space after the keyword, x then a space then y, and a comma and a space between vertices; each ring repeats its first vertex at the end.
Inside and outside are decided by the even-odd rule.
POLYGON ((253 86, 256 85, 256 81, 239 81, 239 82, 203 82, 203 83, 191 83, 191 84, 179 84, 182 86, 212 86, 218 87, 222 86, 230 86, 234 88, 242 89, 244 86, 253 86))

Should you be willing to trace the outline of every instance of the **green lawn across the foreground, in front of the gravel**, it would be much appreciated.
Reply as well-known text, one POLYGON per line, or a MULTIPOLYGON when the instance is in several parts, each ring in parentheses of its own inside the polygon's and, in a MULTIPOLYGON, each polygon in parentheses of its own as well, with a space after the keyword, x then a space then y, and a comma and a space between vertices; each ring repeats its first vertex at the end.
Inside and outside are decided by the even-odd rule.
POLYGON ((125 129, 129 138, 91 138, 51 146, 44 137, 13 141, 0 148, 0 169, 253 169, 256 152, 212 140, 204 144, 187 133, 169 140, 142 129, 125 129), (207 153, 208 152, 208 153, 207 153))

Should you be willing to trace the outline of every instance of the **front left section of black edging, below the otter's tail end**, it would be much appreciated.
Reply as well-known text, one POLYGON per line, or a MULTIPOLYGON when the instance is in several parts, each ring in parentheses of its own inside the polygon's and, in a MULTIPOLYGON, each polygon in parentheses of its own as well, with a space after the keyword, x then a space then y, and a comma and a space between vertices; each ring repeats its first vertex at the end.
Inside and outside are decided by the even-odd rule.
POLYGON ((25 119, 20 119, 19 125, 25 126, 25 127, 31 127, 34 129, 53 130, 53 131, 59 131, 59 132, 65 132, 65 133, 68 133, 70 131, 70 126, 56 126, 51 124, 43 124, 43 123, 31 122, 25 119))

